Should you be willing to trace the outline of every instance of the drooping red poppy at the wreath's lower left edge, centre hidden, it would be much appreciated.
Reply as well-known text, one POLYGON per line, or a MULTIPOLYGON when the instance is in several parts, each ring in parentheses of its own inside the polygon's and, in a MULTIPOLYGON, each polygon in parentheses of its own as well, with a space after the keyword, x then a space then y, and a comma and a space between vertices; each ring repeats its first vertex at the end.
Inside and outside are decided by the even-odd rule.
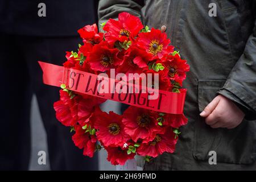
POLYGON ((75 146, 80 149, 84 148, 83 154, 92 158, 96 148, 95 145, 97 139, 94 135, 89 135, 89 132, 85 133, 85 130, 83 130, 80 125, 75 126, 75 131, 76 133, 72 136, 75 146))

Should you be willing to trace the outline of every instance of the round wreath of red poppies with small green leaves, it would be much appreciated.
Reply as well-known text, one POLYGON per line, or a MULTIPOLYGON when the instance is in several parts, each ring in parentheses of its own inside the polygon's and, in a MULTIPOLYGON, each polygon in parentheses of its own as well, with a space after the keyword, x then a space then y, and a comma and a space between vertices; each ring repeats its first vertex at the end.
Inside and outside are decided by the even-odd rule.
MULTIPOLYGON (((180 134, 179 127, 187 123, 183 114, 184 100, 175 99, 185 92, 181 86, 189 71, 187 61, 174 51, 165 32, 143 27, 141 20, 129 13, 121 13, 118 20, 109 19, 101 26, 103 32, 98 32, 96 24, 81 28, 78 32, 83 44, 79 44, 77 52, 67 52, 64 67, 56 68, 69 75, 68 85, 67 82, 52 83, 56 80, 53 78, 57 77, 56 71, 48 82, 44 81, 49 85, 61 85, 60 100, 54 104, 56 118, 71 127, 74 132, 72 140, 84 150, 84 155, 92 157, 94 152, 104 148, 109 162, 114 165, 123 165, 135 155, 144 156, 149 161, 164 152, 173 153, 180 134), (172 100, 163 100, 163 107, 172 107, 172 110, 161 110, 159 103, 156 103, 159 107, 153 109, 148 104, 150 100, 135 103, 132 96, 140 96, 137 93, 126 97, 130 102, 134 99, 134 102, 122 115, 113 111, 106 113, 100 109, 100 104, 106 99, 115 100, 117 93, 103 97, 77 91, 80 86, 77 83, 86 76, 90 76, 89 80, 92 75, 101 73, 110 76, 113 69, 114 76, 118 73, 123 73, 123 76, 130 73, 158 75, 158 86, 153 85, 162 93, 159 97, 171 96, 172 100), (176 112, 176 105, 182 105, 182 110, 176 112)), ((52 72, 50 67, 43 70, 52 72)), ((130 79, 129 76, 129 81, 135 79, 138 78, 130 79)), ((129 104, 129 101, 120 102, 129 104)))

